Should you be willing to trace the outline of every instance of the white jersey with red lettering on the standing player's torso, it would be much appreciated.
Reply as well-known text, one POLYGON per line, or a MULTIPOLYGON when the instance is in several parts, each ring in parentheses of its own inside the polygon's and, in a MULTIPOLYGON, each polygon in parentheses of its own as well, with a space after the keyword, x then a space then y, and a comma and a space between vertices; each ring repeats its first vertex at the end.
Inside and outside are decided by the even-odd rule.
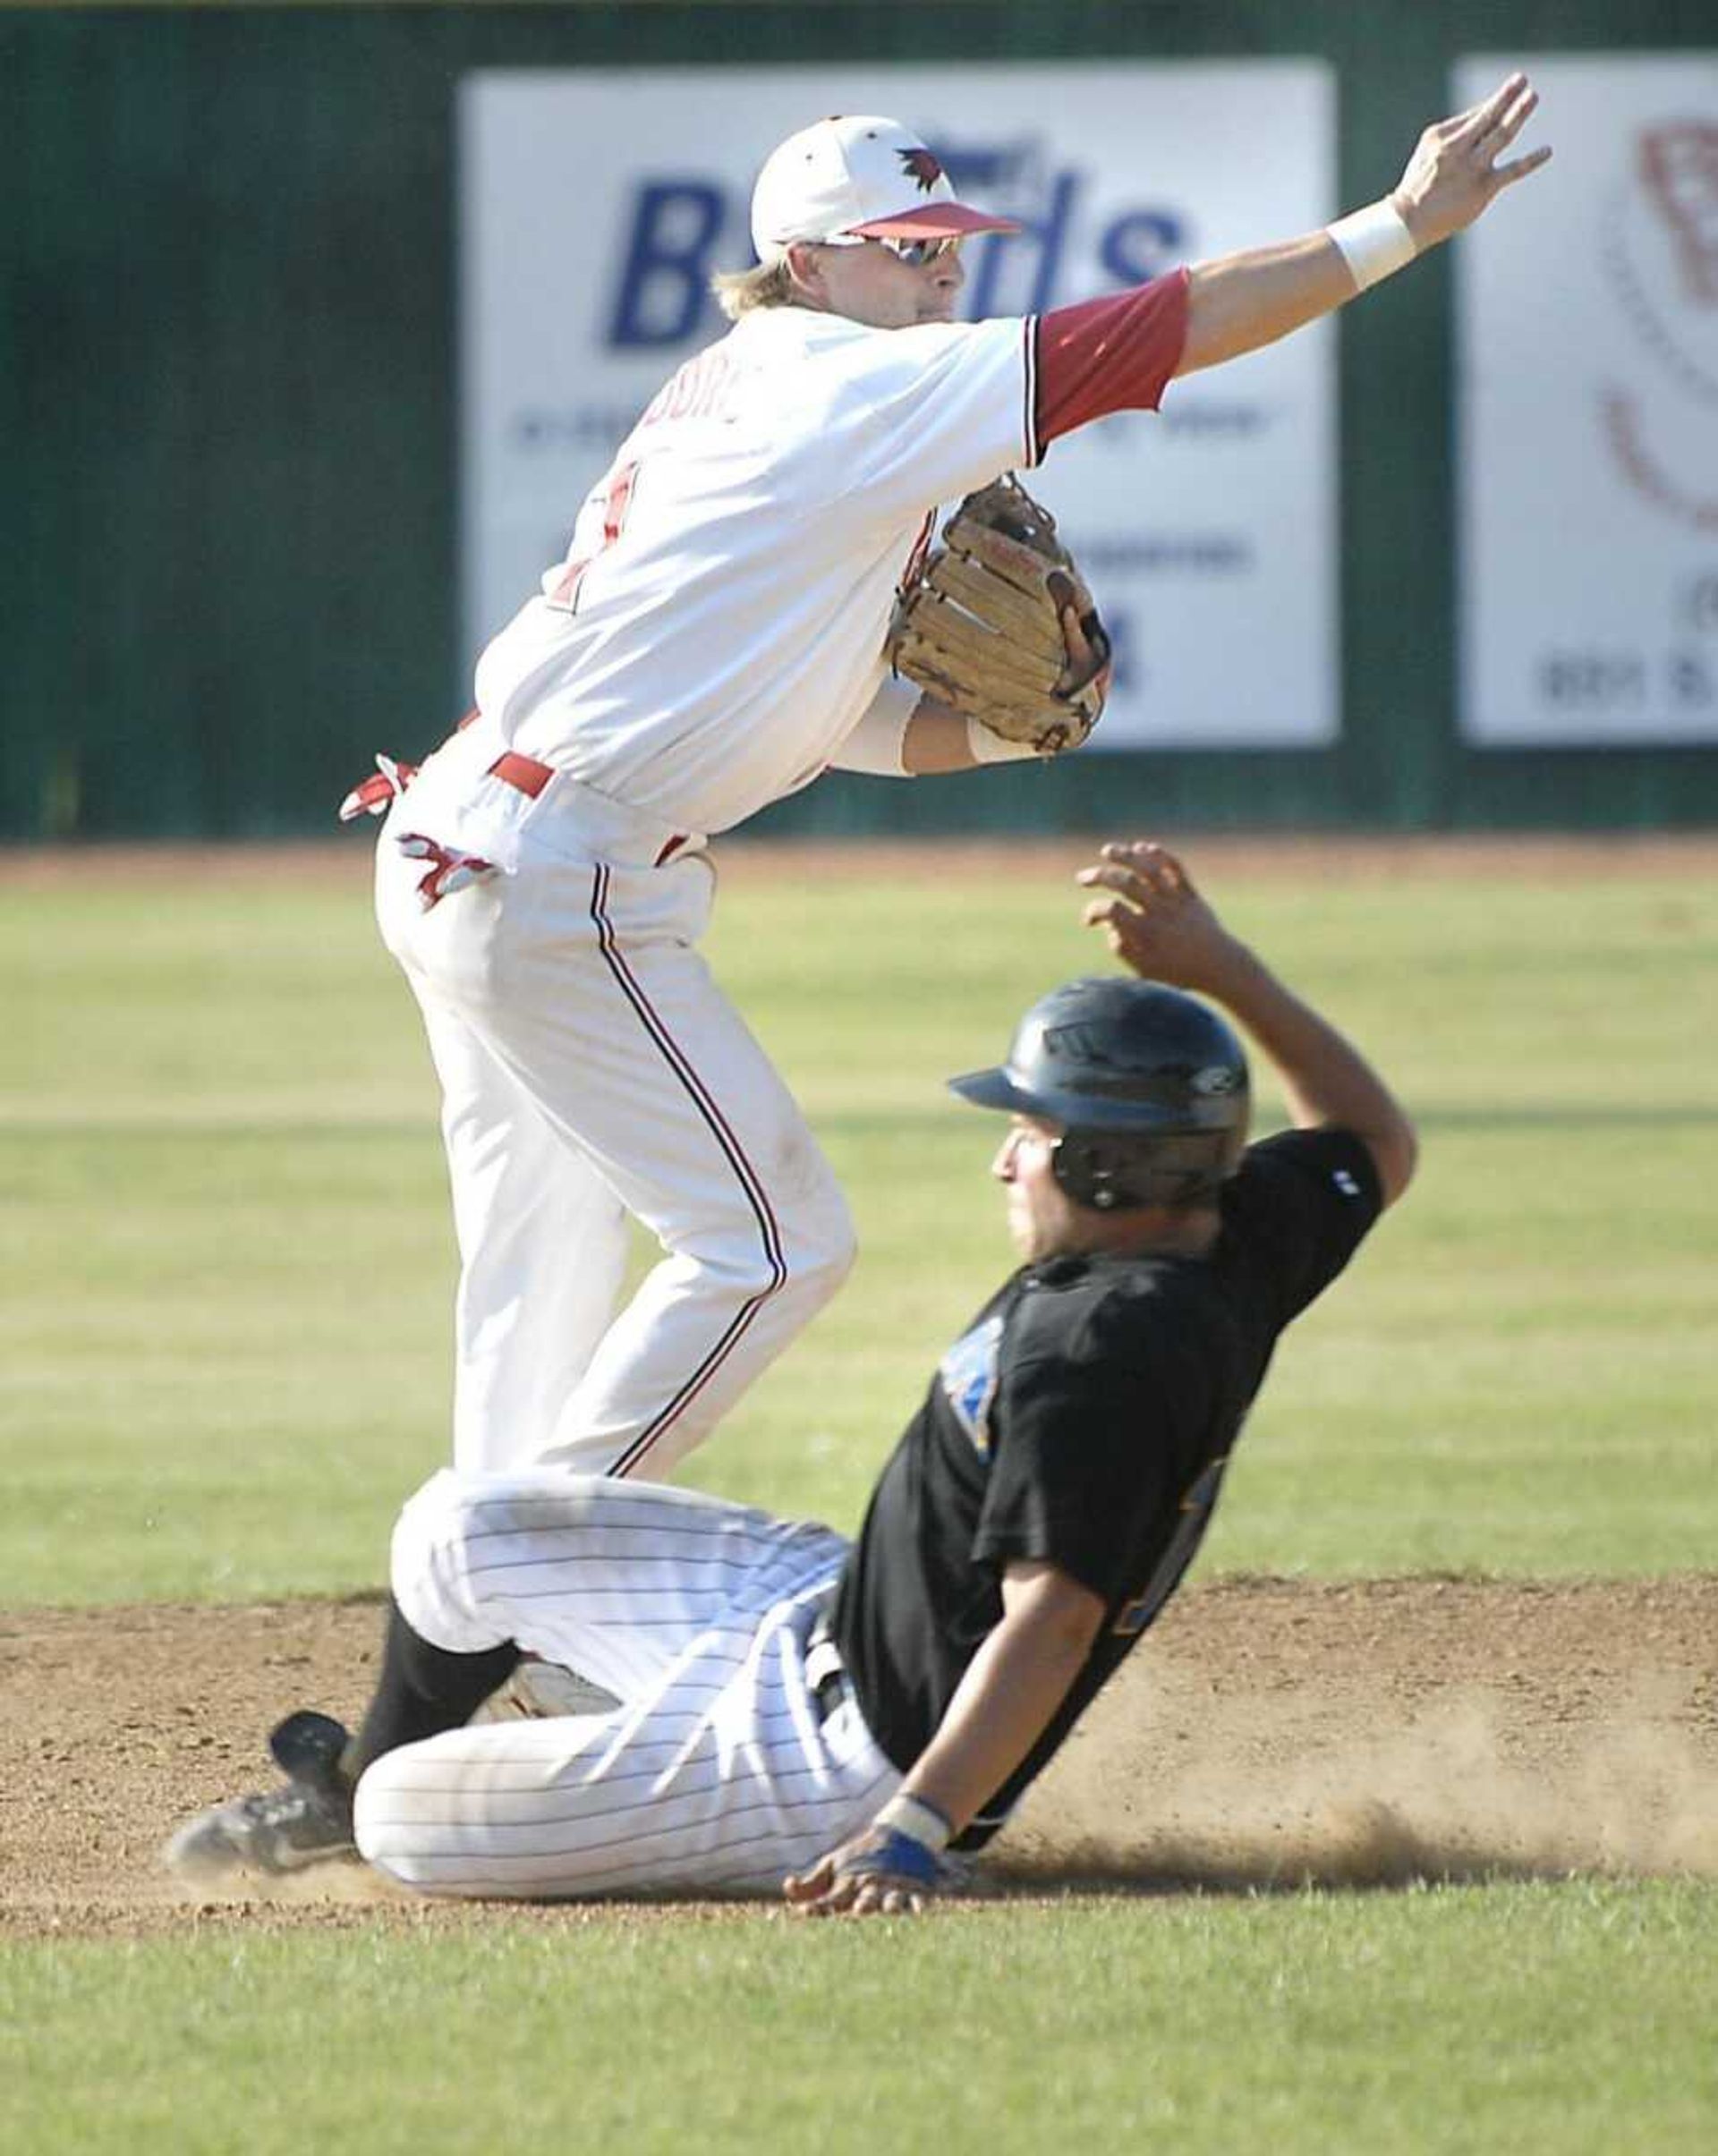
POLYGON ((664 386, 496 636, 502 742, 677 830, 815 778, 938 502, 1037 461, 1033 323, 759 308, 664 386))

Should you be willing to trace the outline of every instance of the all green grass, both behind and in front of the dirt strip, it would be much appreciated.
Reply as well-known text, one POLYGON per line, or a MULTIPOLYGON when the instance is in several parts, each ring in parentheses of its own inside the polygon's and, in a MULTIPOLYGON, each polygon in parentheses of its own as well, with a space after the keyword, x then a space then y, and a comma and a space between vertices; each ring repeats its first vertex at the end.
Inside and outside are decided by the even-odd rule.
MULTIPOLYGON (((1285 1348, 1201 1570, 1709 1572, 1709 875, 1308 860, 1211 888, 1375 1054, 1425 1158, 1285 1348)), ((711 959, 862 1259, 688 1479, 854 1522, 1009 1263, 996 1128, 940 1080, 1104 964, 1076 912, 1035 856, 737 862, 711 959)), ((362 873, 0 886, 0 1604, 379 1583, 446 1451, 453 1255, 362 873)), ((15 1940, 0 2145, 1658 2156, 1718 2141, 1714 1966, 1694 1882, 15 1940)))

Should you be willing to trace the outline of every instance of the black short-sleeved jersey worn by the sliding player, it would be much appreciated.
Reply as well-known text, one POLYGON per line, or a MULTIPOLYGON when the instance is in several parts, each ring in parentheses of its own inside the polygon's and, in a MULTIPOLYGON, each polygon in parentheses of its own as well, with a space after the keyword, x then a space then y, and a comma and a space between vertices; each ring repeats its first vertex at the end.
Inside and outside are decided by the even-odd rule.
POLYGON ((979 1848, 1175 1591, 1278 1332, 1380 1214, 1343 1130, 1250 1145, 1207 1257, 1026 1266, 942 1358, 871 1498, 832 1630, 903 1772, 1002 1619, 1002 1567, 1048 1561, 1104 1598, 1084 1669, 961 1835, 979 1848))

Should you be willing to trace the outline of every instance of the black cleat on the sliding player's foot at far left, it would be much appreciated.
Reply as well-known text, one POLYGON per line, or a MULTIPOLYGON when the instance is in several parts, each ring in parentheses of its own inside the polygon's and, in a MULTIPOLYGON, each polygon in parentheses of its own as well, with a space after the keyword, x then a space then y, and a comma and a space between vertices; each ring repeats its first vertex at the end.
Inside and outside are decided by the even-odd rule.
POLYGON ((351 1785, 341 1772, 347 1731, 330 1714, 289 1714, 269 1751, 289 1781, 261 1796, 235 1796, 185 1820, 164 1854, 190 1887, 263 1874, 282 1878, 341 1856, 356 1856, 351 1785))

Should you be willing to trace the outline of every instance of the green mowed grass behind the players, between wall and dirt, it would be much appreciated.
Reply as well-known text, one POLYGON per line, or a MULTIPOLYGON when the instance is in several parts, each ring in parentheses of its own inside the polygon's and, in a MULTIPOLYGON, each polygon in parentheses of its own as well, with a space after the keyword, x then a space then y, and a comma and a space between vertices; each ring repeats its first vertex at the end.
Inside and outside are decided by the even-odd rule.
MULTIPOLYGON (((1709 1565, 1718 890, 1224 858, 1229 916, 1377 1056, 1425 1164, 1287 1341, 1203 1565, 1709 1565)), ((1011 1261, 996 1121, 942 1080, 1108 964, 1061 875, 925 862, 752 869, 711 934, 862 1257, 685 1479, 836 1524, 1011 1261)), ((418 1015, 362 875, 15 888, 0 966, 2 1600, 373 1585, 446 1453, 455 1259, 418 1015)))

